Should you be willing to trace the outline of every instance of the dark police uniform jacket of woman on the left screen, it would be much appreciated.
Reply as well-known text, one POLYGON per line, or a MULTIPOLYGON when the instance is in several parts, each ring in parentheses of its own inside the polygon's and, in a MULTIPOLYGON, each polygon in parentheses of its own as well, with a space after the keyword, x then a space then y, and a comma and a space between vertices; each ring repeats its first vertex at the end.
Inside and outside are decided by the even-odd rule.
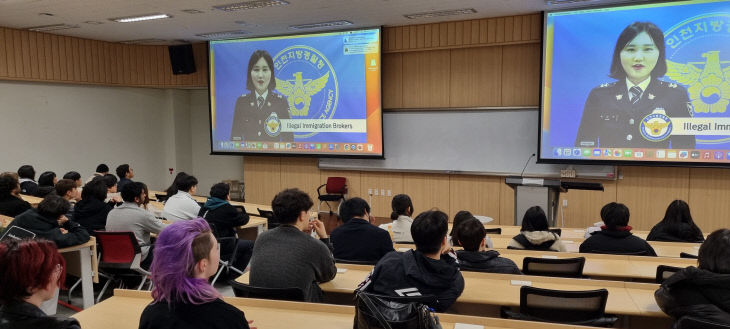
POLYGON ((258 108, 255 92, 238 97, 233 115, 231 140, 252 142, 294 141, 292 133, 281 132, 281 121, 279 121, 278 133, 272 133, 271 131, 267 133, 266 121, 272 113, 276 113, 280 120, 289 118, 289 104, 286 99, 271 90, 266 95, 261 109, 258 108))

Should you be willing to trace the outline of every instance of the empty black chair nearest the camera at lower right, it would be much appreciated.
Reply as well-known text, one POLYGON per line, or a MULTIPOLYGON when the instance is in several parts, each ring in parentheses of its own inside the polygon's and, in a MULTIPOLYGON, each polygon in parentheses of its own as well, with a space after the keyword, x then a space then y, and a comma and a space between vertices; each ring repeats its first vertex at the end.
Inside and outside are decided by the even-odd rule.
POLYGON ((508 319, 612 327, 618 317, 606 315, 608 290, 563 291, 522 286, 520 311, 502 308, 508 319))

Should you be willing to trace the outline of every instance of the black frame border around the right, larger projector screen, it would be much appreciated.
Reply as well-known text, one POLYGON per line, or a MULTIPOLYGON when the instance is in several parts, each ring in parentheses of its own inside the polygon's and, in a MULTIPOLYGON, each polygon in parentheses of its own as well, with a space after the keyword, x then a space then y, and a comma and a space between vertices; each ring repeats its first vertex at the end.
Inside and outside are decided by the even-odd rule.
MULTIPOLYGON (((677 3, 677 2, 689 2, 692 0, 649 0, 642 1, 640 3, 616 3, 608 5, 592 5, 584 7, 573 7, 558 10, 545 10, 542 12, 542 39, 541 39, 541 50, 540 50, 540 91, 539 91, 539 104, 538 104, 538 121, 537 121, 537 159, 536 163, 544 164, 565 164, 565 165, 597 165, 597 166, 649 166, 649 167, 685 167, 685 168, 730 168, 730 162, 695 162, 695 161, 646 161, 646 160, 585 160, 585 159, 555 159, 555 158, 544 158, 542 155, 542 126, 543 126, 543 110, 544 102, 543 97, 545 94, 545 55, 546 55, 546 38, 547 38, 547 16, 553 13, 579 11, 579 10, 595 10, 603 8, 620 8, 628 6, 648 5, 648 4, 661 4, 661 3, 677 3)), ((730 149, 726 152, 730 153, 730 149)))

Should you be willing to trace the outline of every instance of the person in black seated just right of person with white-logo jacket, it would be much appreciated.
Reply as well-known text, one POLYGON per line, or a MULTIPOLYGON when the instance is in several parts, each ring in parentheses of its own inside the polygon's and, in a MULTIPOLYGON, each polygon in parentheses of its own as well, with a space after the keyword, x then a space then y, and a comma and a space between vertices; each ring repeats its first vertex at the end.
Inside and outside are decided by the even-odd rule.
POLYGON ((477 270, 491 273, 522 274, 511 259, 499 257, 496 250, 487 251, 485 238, 487 230, 476 218, 469 218, 459 225, 459 244, 464 250, 456 251, 462 270, 477 270))

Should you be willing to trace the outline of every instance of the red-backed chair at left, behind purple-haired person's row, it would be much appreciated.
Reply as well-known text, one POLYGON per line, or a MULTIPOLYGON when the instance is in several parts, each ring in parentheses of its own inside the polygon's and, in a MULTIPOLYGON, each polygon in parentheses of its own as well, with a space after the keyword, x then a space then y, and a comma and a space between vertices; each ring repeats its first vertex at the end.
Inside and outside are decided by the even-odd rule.
MULTIPOLYGON (((137 287, 137 290, 141 290, 150 277, 150 272, 140 266, 142 263, 142 248, 139 247, 134 233, 108 231, 94 231, 94 233, 96 241, 99 243, 98 252, 101 255, 99 270, 103 270, 104 276, 109 278, 99 292, 99 296, 96 297, 96 302, 98 303, 101 297, 104 296, 109 284, 121 281, 122 276, 142 277, 142 282, 137 287)), ((151 281, 149 288, 152 288, 151 281)))

